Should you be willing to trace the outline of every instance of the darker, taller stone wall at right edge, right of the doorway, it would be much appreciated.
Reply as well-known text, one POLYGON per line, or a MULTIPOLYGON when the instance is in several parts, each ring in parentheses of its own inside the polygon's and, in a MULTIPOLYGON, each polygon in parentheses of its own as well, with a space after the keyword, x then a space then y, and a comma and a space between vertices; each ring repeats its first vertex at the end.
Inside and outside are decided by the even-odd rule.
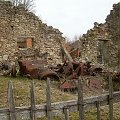
POLYGON ((110 30, 110 58, 111 66, 120 70, 120 2, 113 5, 113 10, 106 18, 110 30))

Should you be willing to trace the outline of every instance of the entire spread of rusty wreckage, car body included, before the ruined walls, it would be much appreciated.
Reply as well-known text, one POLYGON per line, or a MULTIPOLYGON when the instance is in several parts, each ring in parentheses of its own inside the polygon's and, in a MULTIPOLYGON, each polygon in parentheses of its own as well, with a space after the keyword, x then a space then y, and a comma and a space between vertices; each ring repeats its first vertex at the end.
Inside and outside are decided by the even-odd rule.
MULTIPOLYGON (((50 77, 54 80, 64 81, 59 84, 59 88, 64 91, 74 91, 77 89, 77 80, 79 76, 96 76, 102 72, 99 66, 93 66, 90 62, 75 62, 71 59, 56 67, 48 66, 47 60, 19 60, 19 73, 30 79, 46 79, 50 77)), ((3 75, 16 77, 16 65, 10 65, 9 62, 0 64, 0 70, 3 75)), ((100 83, 94 80, 89 81, 90 89, 100 88, 100 83)))

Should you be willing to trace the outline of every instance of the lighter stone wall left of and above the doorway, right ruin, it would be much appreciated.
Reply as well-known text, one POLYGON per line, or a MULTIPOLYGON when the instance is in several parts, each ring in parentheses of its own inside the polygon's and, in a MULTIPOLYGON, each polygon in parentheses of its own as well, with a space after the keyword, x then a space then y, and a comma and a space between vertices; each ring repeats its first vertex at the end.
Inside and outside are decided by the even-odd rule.
POLYGON ((87 31, 86 34, 83 34, 83 36, 80 38, 81 41, 81 59, 82 60, 87 60, 90 61, 92 63, 102 63, 103 62, 103 58, 101 56, 101 52, 103 50, 104 47, 103 45, 103 41, 104 39, 108 39, 109 38, 109 34, 108 34, 108 29, 107 29, 107 25, 106 24, 98 24, 98 23, 94 23, 94 27, 90 30, 87 31), (100 60, 101 59, 101 60, 100 60))

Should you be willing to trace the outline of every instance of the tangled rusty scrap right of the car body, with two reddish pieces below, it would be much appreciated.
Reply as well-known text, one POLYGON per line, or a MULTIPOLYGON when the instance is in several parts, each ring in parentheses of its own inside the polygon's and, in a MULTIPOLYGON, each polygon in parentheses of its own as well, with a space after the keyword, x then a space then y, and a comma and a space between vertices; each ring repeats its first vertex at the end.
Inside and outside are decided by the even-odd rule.
MULTIPOLYGON (((92 66, 90 62, 82 63, 82 62, 66 62, 63 65, 58 65, 57 74, 65 79, 64 82, 61 83, 60 89, 68 90, 68 89, 76 89, 77 88, 77 79, 80 75, 82 76, 96 76, 97 74, 102 72, 102 68, 98 66, 92 66), (68 80, 70 80, 68 82, 68 80)), ((89 81, 90 88, 100 88, 101 85, 99 82, 94 80, 89 81)))

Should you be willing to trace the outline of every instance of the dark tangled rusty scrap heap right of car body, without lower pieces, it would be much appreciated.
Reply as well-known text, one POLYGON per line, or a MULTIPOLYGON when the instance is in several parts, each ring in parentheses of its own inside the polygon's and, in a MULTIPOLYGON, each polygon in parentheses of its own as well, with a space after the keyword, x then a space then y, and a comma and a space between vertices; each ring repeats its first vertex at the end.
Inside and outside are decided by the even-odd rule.
POLYGON ((90 63, 82 62, 65 62, 63 65, 58 66, 58 74, 62 74, 62 77, 69 79, 77 79, 80 75, 95 75, 102 71, 102 68, 90 66, 90 63))

